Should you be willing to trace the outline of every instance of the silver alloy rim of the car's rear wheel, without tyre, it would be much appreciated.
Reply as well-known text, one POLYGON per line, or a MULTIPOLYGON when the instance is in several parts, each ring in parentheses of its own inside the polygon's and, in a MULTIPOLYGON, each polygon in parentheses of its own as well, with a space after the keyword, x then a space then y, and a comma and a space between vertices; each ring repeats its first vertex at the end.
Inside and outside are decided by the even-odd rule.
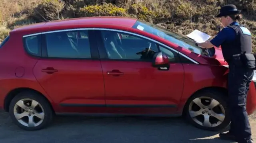
POLYGON ((45 113, 40 103, 26 98, 16 102, 14 116, 20 124, 26 127, 36 127, 44 121, 45 113))

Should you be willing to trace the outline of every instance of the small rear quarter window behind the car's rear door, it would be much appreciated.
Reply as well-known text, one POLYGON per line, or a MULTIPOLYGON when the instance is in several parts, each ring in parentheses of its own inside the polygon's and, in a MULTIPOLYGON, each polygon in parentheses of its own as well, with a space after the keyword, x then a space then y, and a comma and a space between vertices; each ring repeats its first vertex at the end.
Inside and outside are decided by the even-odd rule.
POLYGON ((40 56, 40 35, 33 35, 24 38, 24 46, 26 51, 35 56, 40 56))

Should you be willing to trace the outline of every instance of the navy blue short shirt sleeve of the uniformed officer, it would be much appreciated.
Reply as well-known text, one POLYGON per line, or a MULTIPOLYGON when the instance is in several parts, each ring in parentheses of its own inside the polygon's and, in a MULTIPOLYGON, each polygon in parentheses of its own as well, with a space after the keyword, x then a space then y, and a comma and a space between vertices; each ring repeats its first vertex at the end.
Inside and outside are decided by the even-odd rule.
MULTIPOLYGON (((239 25, 238 22, 232 22, 230 25, 239 25)), ((236 38, 236 31, 230 27, 223 28, 210 42, 219 47, 224 41, 233 41, 236 38)))

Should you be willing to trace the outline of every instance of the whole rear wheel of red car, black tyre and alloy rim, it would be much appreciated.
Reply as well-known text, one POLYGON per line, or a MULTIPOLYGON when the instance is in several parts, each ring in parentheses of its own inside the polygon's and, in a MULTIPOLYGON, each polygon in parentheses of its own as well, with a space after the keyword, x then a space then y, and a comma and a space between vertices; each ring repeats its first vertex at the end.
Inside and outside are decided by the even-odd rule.
POLYGON ((18 127, 28 131, 43 129, 53 118, 49 102, 32 91, 17 94, 10 102, 9 114, 18 127))

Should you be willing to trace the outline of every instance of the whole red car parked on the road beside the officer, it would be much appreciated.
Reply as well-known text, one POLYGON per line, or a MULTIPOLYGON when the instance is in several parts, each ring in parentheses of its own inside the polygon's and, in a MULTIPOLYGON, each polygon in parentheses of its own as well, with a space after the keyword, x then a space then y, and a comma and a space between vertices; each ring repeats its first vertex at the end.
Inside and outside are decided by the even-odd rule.
MULTIPOLYGON (((230 123, 221 50, 202 51, 148 22, 90 17, 28 25, 10 32, 0 57, 0 108, 25 130, 42 129, 58 114, 184 115, 212 131, 230 123)), ((248 114, 256 109, 255 81, 248 114)))

